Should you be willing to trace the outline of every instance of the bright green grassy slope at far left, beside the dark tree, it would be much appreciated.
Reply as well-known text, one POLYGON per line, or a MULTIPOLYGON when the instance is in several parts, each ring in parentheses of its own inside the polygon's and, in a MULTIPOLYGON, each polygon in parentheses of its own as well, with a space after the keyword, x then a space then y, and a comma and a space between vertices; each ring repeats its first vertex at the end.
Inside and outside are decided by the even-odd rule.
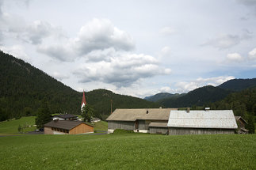
POLYGON ((0 134, 17 134, 17 127, 21 125, 23 127, 25 124, 32 127, 25 128, 24 131, 36 130, 36 127, 33 127, 35 124, 35 116, 21 117, 21 119, 15 119, 5 122, 0 122, 0 134))

